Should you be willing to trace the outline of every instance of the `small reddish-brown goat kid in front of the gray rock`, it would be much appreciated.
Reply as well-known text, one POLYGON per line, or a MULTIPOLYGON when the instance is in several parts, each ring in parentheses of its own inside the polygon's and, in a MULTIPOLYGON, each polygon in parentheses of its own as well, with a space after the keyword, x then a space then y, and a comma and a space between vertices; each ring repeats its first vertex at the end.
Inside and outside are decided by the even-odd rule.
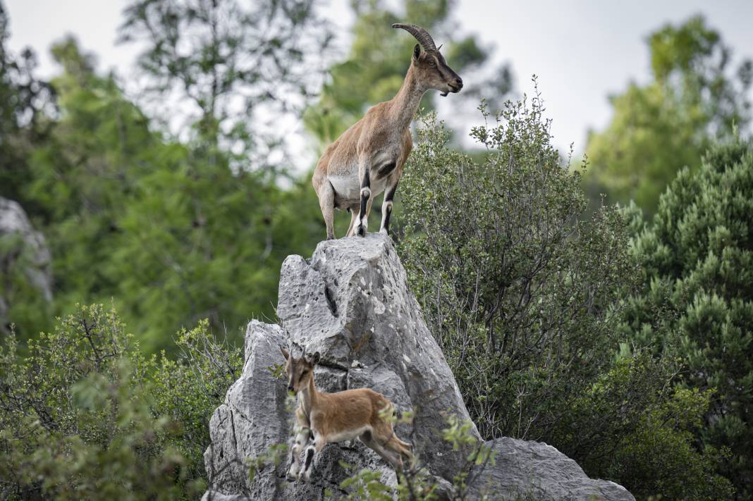
POLYGON ((314 366, 319 362, 319 352, 310 359, 306 356, 296 359, 285 348, 280 350, 287 360, 288 391, 298 396, 288 481, 301 478, 309 481, 314 454, 322 451, 328 442, 358 438, 395 469, 403 467, 403 458, 413 457, 410 444, 398 439, 392 423, 383 417, 393 412, 392 402, 385 396, 368 388, 322 393, 314 384, 314 366), (309 436, 314 442, 306 447, 309 436), (306 454, 301 471, 300 453, 304 447, 306 454))

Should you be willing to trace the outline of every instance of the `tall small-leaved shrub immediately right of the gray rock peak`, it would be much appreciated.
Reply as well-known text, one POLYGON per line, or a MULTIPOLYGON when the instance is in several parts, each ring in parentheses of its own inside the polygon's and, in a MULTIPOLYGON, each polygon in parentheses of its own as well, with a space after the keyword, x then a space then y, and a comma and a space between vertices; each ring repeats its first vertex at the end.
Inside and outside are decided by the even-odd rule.
POLYGON ((488 438, 547 436, 563 402, 603 372, 616 344, 609 305, 629 273, 619 214, 579 219, 580 175, 541 112, 534 96, 474 129, 480 160, 450 150, 429 117, 401 184, 401 258, 488 438))

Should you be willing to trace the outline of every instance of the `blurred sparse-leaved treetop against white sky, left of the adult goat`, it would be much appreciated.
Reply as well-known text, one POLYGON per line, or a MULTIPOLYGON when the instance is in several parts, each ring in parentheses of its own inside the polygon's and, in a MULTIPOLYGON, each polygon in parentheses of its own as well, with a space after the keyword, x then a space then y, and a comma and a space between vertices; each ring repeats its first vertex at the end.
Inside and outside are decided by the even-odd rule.
MULTIPOLYGON (((315 0, 134 0, 120 40, 144 49, 138 63, 146 93, 169 121, 183 116, 206 158, 230 156, 239 169, 279 170, 279 132, 260 114, 300 108, 319 80, 331 40, 315 0), (191 110, 186 110, 186 104, 191 110), (273 158, 270 159, 270 156, 273 158)), ((279 129, 279 127, 277 127, 279 129)))

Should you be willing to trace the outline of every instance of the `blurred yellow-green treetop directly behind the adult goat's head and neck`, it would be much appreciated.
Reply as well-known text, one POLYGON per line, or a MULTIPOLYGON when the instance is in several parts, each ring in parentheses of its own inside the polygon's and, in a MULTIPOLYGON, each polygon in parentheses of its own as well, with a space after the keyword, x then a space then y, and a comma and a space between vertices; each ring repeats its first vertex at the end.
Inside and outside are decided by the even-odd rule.
MULTIPOLYGON (((459 38, 454 32, 453 5, 452 0, 408 0, 401 3, 402 11, 396 13, 379 0, 352 2, 355 23, 350 51, 343 61, 331 65, 319 102, 309 107, 304 115, 306 129, 322 147, 359 120, 367 108, 392 99, 400 89, 416 39, 393 29, 393 23, 423 26, 437 45, 446 42, 442 51, 448 64, 458 73, 478 68, 489 59, 489 50, 483 48, 475 36, 459 38), (450 39, 455 41, 448 41, 450 39)), ((459 97, 475 101, 483 90, 488 99, 501 106, 503 96, 511 89, 508 66, 502 65, 492 76, 486 79, 480 76, 478 80, 481 83, 466 86, 459 97)), ((422 107, 433 109, 432 99, 433 95, 427 94, 422 107)))

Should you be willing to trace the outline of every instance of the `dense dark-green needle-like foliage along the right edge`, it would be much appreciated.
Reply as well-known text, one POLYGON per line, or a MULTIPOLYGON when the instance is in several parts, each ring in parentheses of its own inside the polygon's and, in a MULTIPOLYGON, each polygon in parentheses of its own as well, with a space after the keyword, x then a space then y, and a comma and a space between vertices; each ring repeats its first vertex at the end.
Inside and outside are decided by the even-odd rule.
POLYGON ((717 145, 697 172, 681 170, 633 238, 644 288, 627 299, 623 326, 636 344, 680 357, 684 387, 715 389, 696 433, 732 452, 719 471, 739 499, 753 496, 751 200, 750 141, 717 145))

